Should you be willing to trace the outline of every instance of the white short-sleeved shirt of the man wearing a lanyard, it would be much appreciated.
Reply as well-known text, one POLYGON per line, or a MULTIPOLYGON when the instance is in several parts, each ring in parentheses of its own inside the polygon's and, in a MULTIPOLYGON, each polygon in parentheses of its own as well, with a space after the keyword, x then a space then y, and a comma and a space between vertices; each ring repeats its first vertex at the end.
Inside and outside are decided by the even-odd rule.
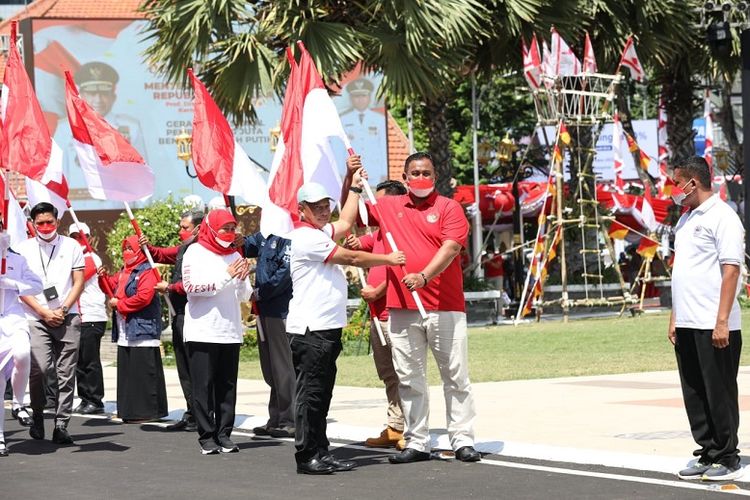
MULTIPOLYGON (((81 245, 72 238, 60 236, 51 242, 41 241, 39 238, 29 238, 16 246, 16 251, 26 257, 26 262, 31 270, 40 278, 44 288, 54 286, 58 297, 49 303, 44 293, 35 295, 36 300, 42 307, 57 309, 73 287, 73 271, 83 271, 85 262, 81 245)), ((23 304, 26 318, 33 321, 38 320, 33 309, 23 304)), ((70 313, 78 312, 78 304, 70 306, 70 313)))

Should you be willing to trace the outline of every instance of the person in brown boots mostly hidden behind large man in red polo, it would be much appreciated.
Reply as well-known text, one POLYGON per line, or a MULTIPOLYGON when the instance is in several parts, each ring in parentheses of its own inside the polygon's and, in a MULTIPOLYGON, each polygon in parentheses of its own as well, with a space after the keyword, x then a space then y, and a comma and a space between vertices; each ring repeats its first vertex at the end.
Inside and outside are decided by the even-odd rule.
MULTIPOLYGON (((375 196, 380 199, 383 196, 400 196, 406 194, 406 187, 399 181, 383 181, 377 185, 375 196)), ((354 235, 347 236, 347 247, 352 250, 362 250, 376 254, 386 253, 385 240, 378 230, 357 238, 354 235)), ((362 298, 370 304, 375 317, 380 321, 386 345, 382 345, 375 326, 375 319, 370 323, 370 345, 372 346, 372 359, 375 362, 375 370, 378 377, 385 384, 385 395, 388 399, 387 426, 378 437, 368 438, 365 446, 375 448, 395 447, 402 450, 404 441, 404 414, 401 410, 401 397, 398 395, 398 375, 393 368, 393 355, 391 343, 388 338, 388 309, 386 309, 386 281, 385 266, 370 268, 367 273, 367 285, 362 288, 362 298)))

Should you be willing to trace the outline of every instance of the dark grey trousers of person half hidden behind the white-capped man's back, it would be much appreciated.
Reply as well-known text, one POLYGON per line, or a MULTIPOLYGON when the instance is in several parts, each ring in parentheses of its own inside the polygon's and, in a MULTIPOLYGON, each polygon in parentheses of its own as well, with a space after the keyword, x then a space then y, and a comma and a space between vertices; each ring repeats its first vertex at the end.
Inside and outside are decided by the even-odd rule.
POLYGON ((284 320, 258 316, 263 329, 263 342, 258 339, 260 369, 263 380, 271 388, 268 398, 268 427, 294 427, 294 390, 296 375, 292 351, 284 331, 284 320))

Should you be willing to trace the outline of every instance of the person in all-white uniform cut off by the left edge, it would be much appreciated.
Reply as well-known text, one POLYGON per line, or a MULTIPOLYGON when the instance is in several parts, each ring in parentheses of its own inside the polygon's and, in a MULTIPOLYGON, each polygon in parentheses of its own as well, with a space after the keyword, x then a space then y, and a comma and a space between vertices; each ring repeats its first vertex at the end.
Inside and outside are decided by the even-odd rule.
MULTIPOLYGON (((0 231, 2 223, 0 222, 0 231)), ((5 274, 0 276, 3 302, 0 307, 0 394, 5 393, 6 380, 13 386, 14 418, 24 426, 32 424, 31 416, 21 402, 26 394, 31 371, 29 322, 26 321, 20 295, 36 295, 44 287, 42 279, 26 263, 26 259, 10 249, 10 235, 0 232, 0 251, 7 250, 5 274)), ((0 415, 0 457, 8 456, 4 435, 5 415, 0 415)))

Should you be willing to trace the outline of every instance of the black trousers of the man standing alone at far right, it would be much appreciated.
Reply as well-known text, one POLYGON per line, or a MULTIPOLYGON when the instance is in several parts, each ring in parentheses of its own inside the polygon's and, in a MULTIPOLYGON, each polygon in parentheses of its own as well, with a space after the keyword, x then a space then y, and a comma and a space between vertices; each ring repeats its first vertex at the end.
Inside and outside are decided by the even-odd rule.
POLYGON ((742 334, 729 332, 729 345, 717 349, 711 344, 711 330, 677 328, 676 333, 682 397, 693 439, 700 446, 693 455, 703 462, 736 466, 740 461, 737 371, 742 334))

